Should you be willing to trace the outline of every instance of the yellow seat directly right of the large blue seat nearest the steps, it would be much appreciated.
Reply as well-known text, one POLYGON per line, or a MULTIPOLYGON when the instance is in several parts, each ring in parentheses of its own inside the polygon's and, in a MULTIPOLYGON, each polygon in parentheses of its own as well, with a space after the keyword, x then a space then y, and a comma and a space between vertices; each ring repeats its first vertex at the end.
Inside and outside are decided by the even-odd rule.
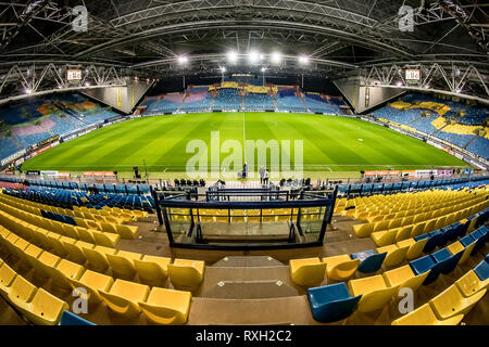
POLYGON ((348 287, 352 296, 362 295, 358 310, 372 312, 381 309, 397 293, 397 286, 387 286, 380 274, 350 280, 348 287))

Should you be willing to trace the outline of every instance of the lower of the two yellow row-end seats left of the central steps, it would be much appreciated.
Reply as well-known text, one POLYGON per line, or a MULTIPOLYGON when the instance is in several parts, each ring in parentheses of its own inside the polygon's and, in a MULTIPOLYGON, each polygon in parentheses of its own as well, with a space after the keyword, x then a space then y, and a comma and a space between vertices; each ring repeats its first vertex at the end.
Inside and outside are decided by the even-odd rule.
POLYGON ((146 303, 139 303, 143 314, 156 324, 185 324, 190 310, 192 294, 153 287, 146 303))

